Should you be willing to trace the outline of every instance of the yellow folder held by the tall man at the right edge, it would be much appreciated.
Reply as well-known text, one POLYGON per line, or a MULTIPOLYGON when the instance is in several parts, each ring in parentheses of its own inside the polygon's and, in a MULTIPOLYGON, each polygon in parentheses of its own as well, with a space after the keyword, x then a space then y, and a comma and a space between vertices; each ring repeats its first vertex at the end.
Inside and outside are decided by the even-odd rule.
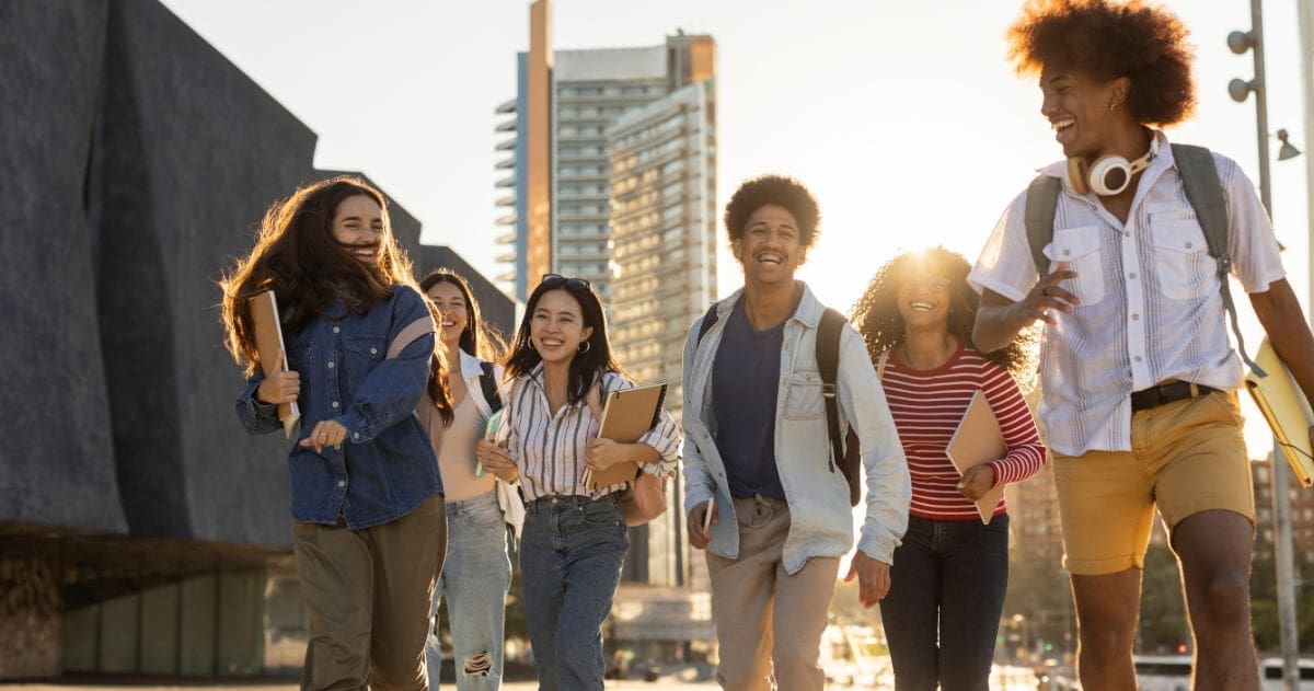
POLYGON ((1251 370, 1246 374, 1246 390, 1264 414, 1268 427, 1273 431, 1273 439, 1282 448, 1282 456, 1286 456, 1296 478, 1306 487, 1314 486, 1314 458, 1311 458, 1314 449, 1310 448, 1309 435, 1310 424, 1314 424, 1314 412, 1310 411, 1310 403, 1267 338, 1259 344, 1255 364, 1268 376, 1260 377, 1251 370))

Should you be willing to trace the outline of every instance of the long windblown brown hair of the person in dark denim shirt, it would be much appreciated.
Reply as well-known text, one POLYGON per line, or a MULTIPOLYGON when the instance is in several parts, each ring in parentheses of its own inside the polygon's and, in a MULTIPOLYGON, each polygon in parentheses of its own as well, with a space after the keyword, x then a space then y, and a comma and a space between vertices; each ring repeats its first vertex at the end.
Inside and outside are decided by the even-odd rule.
POLYGON ((251 254, 219 280, 223 290, 221 314, 225 347, 247 376, 255 373, 260 355, 247 300, 273 290, 283 311, 285 334, 298 334, 343 298, 347 307, 364 314, 393 294, 393 285, 415 285, 406 252, 393 236, 384 193, 359 177, 340 176, 305 185, 264 214, 251 254), (365 265, 332 235, 338 205, 355 196, 374 200, 382 209, 384 233, 378 261, 365 265))

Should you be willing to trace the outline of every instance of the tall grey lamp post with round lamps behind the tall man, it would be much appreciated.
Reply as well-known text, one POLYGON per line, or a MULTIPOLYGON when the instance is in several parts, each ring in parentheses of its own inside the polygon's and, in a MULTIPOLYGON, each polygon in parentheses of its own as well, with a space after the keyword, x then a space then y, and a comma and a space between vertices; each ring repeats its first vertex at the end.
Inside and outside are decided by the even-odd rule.
MULTIPOLYGON (((1250 0, 1250 32, 1233 32, 1227 35, 1227 47, 1240 55, 1250 50, 1255 58, 1255 79, 1246 81, 1234 79, 1227 84, 1227 92, 1235 101, 1244 101, 1255 95, 1255 126, 1259 135, 1259 198, 1273 217, 1273 201, 1268 173, 1268 99, 1264 81, 1264 17, 1261 0, 1250 0)), ((1285 131, 1282 133, 1285 134, 1285 131)), ((1286 145, 1286 141, 1282 141, 1286 145)), ((1285 151, 1285 150, 1284 150, 1285 151)), ((1223 279, 1227 280, 1227 279, 1223 279)), ((1288 497, 1288 470, 1281 447, 1273 443, 1273 558, 1277 571, 1277 621, 1279 638, 1282 650, 1282 679, 1288 691, 1300 688, 1298 642, 1296 629, 1296 590, 1294 564, 1292 562, 1292 507, 1288 497)))

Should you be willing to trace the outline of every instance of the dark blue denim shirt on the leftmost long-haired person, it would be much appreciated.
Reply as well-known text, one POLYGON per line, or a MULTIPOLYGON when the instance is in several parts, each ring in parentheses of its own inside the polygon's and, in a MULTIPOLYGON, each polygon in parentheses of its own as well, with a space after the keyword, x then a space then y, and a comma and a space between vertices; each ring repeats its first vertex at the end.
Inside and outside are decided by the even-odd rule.
MULTIPOLYGON (((288 340, 288 368, 301 374, 297 441, 321 420, 347 430, 342 444, 323 452, 293 443, 293 519, 332 525, 343 516, 351 529, 369 528, 405 516, 443 490, 434 449, 414 414, 428 381, 432 324, 388 357, 393 339, 418 319, 431 319, 424 298, 394 285, 393 296, 365 314, 338 300, 288 340)), ((263 380, 258 372, 237 401, 251 434, 281 428, 277 406, 255 397, 263 380)))

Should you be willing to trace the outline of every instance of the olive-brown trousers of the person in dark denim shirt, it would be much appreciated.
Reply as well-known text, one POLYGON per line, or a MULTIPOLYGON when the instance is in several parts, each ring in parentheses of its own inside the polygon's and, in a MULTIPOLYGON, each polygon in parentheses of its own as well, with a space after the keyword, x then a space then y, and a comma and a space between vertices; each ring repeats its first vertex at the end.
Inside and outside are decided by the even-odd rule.
POLYGON ((310 611, 301 688, 426 690, 428 608, 447 550, 443 495, 360 531, 293 523, 292 546, 310 611))

